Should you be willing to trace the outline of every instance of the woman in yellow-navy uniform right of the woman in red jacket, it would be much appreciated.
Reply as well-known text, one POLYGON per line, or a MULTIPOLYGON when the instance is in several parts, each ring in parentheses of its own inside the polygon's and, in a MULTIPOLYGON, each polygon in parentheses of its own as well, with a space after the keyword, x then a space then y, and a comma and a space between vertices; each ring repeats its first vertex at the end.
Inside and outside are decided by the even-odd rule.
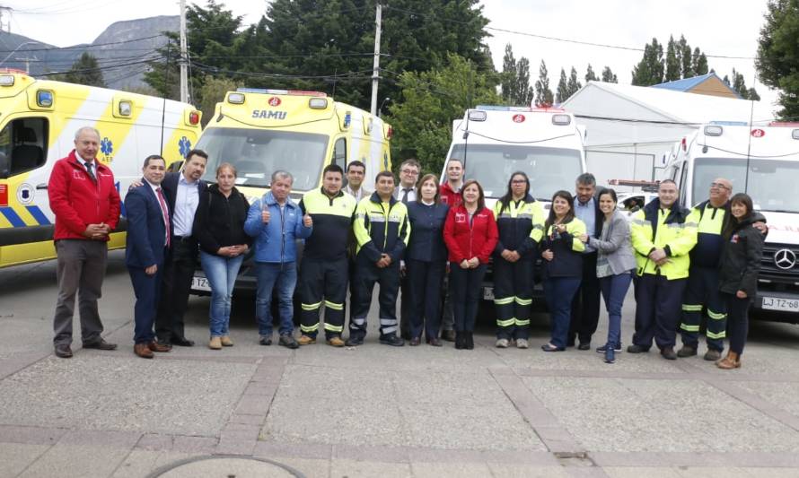
POLYGON ((544 210, 530 195, 530 179, 516 171, 494 205, 499 240, 494 248, 496 347, 526 349, 530 337, 533 262, 543 236, 544 210))

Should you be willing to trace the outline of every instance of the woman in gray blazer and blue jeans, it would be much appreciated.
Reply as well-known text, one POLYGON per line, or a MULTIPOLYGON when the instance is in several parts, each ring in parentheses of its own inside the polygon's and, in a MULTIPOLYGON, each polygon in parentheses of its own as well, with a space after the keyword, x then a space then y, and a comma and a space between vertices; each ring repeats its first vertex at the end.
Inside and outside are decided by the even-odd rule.
POLYGON ((613 363, 616 352, 621 352, 621 306, 632 281, 636 258, 630 244, 630 231, 624 214, 616 209, 618 199, 613 189, 603 189, 599 194, 599 207, 604 214, 599 238, 583 235, 580 239, 599 251, 596 275, 600 279, 602 297, 608 309, 608 343, 596 349, 604 352, 605 361, 613 363))

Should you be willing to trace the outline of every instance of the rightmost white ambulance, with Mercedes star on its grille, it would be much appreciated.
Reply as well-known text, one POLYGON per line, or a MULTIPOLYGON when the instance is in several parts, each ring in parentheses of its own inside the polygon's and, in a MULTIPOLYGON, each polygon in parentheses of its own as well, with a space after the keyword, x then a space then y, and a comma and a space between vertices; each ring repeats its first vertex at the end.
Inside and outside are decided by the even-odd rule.
POLYGON ((799 323, 799 123, 701 126, 672 149, 663 178, 677 182, 686 207, 706 200, 715 178, 730 179, 733 194, 751 196, 768 221, 752 307, 777 321, 799 323))

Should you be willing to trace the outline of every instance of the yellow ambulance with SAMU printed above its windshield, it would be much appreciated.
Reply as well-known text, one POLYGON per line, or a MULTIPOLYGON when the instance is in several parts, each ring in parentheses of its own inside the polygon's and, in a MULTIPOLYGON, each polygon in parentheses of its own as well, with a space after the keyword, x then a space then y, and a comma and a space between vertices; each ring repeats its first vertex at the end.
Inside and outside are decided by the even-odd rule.
POLYGON ((355 160, 366 165, 364 187, 373 190, 378 171, 391 169, 391 133, 380 117, 322 92, 240 88, 216 104, 198 148, 208 153, 206 180, 229 162, 247 196, 262 196, 277 169, 292 173, 299 195, 321 186, 328 164, 347 169, 355 160))

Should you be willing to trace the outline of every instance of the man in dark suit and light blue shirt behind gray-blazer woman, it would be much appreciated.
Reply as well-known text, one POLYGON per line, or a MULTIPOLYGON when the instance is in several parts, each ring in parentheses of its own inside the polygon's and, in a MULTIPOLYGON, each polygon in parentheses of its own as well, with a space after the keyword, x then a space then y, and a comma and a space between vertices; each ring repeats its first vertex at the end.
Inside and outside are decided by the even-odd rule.
MULTIPOLYGON (((602 232, 604 214, 596 197, 596 178, 586 172, 577 177, 575 184, 575 216, 585 223, 589 236, 599 238, 602 232)), ((596 249, 586 246, 583 252, 583 282, 572 301, 572 317, 566 345, 574 346, 575 338, 580 339, 580 350, 591 348, 591 336, 599 323, 600 284, 596 276, 596 249)), ((617 350, 617 352, 621 352, 617 350)))

